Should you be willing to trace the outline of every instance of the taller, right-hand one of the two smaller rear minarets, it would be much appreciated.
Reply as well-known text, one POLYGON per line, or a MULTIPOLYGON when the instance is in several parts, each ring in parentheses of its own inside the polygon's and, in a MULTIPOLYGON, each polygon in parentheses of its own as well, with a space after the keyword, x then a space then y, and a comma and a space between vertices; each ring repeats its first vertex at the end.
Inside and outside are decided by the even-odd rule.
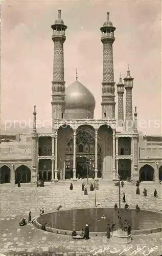
POLYGON ((132 88, 133 88, 133 79, 130 76, 129 65, 127 76, 124 78, 124 87, 126 90, 126 103, 125 103, 125 121, 126 121, 126 130, 133 130, 133 112, 132 112, 132 88))

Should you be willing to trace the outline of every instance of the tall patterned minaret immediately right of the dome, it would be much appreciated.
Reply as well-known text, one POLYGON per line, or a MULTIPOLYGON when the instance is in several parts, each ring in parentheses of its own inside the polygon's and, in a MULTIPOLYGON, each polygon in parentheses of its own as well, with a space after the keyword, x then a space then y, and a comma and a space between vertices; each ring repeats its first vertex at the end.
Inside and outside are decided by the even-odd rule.
POLYGON ((113 50, 112 44, 115 40, 112 22, 109 20, 109 12, 107 12, 107 20, 100 28, 102 31, 101 41, 103 44, 103 82, 102 82, 102 119, 115 118, 115 88, 113 78, 113 50))

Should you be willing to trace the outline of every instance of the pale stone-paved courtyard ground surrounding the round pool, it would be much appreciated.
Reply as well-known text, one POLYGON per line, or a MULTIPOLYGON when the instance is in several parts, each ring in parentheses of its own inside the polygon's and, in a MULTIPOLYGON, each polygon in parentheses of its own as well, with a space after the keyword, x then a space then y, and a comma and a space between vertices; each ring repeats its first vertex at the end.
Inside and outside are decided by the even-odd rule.
MULTIPOLYGON (((155 184, 141 184, 141 195, 136 195, 136 186, 128 183, 122 188, 126 194, 129 208, 138 204, 141 209, 159 211, 161 203, 162 186, 155 184), (153 191, 157 189, 159 197, 154 199, 153 191), (144 187, 148 197, 142 192, 144 187)), ((118 204, 119 188, 111 183, 100 183, 97 191, 99 207, 113 207, 118 204)), ((126 248, 125 245, 112 243, 106 237, 92 237, 88 241, 74 241, 70 236, 49 233, 35 228, 32 224, 20 227, 19 221, 32 211, 32 217, 39 215, 41 207, 45 213, 55 211, 58 205, 62 209, 94 207, 95 191, 90 191, 84 196, 81 183, 74 185, 74 190, 69 189, 69 184, 48 185, 33 188, 22 184, 20 188, 1 186, 1 252, 6 255, 161 255, 162 232, 142 236, 133 236, 133 241, 126 248), (154 247, 154 250, 150 250, 154 247), (141 249, 140 249, 141 248, 141 249), (105 251, 104 251, 105 250, 105 251)), ((124 207, 124 203, 121 205, 124 207)), ((161 213, 162 214, 162 213, 161 213)), ((162 226, 162 223, 159 223, 162 226)))

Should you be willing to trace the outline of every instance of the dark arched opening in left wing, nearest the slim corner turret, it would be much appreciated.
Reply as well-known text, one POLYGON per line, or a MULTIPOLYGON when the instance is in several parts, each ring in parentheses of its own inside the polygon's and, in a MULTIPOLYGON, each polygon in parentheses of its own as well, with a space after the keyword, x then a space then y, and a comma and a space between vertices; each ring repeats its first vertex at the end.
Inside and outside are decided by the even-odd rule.
POLYGON ((31 180, 31 171, 26 165, 20 165, 15 170, 15 183, 18 181, 28 183, 31 180))

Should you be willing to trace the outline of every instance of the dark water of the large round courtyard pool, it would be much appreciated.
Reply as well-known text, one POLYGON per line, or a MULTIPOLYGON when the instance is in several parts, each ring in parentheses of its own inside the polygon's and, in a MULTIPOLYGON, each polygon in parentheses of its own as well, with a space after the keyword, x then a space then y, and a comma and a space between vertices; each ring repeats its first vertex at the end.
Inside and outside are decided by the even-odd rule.
MULTIPOLYGON (((38 217, 36 225, 40 227, 47 222, 47 231, 59 233, 58 230, 65 230, 67 234, 67 231, 71 232, 73 229, 80 231, 85 224, 88 224, 90 232, 106 232, 107 223, 110 226, 114 223, 116 228, 119 227, 118 211, 119 209, 114 208, 60 210, 38 217)), ((123 226, 125 220, 131 224, 132 232, 135 230, 134 234, 146 233, 145 230, 150 230, 148 232, 162 230, 162 215, 157 212, 121 209, 121 224, 123 226)))

